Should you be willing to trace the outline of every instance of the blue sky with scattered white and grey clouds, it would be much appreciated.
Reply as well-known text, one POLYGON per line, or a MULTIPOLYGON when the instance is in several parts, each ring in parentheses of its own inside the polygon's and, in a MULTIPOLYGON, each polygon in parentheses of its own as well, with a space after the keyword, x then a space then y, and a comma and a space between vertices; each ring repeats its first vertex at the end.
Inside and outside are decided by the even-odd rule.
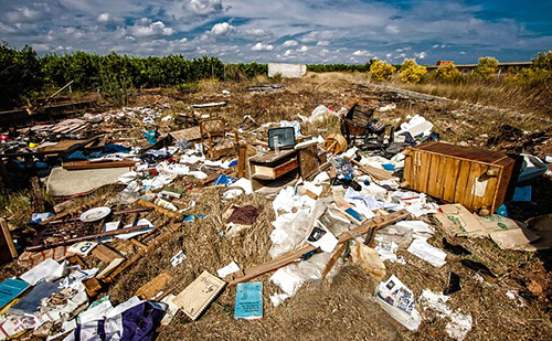
POLYGON ((0 40, 39 53, 181 53, 224 62, 529 61, 552 49, 552 1, 0 1, 0 40))

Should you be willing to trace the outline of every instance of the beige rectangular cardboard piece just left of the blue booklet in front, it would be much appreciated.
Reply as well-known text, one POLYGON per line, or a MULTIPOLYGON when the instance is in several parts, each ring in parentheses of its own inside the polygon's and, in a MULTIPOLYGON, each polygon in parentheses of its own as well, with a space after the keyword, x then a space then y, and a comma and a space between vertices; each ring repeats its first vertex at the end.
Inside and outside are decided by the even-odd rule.
POLYGON ((184 290, 177 295, 172 302, 195 321, 225 286, 224 280, 203 271, 184 290))

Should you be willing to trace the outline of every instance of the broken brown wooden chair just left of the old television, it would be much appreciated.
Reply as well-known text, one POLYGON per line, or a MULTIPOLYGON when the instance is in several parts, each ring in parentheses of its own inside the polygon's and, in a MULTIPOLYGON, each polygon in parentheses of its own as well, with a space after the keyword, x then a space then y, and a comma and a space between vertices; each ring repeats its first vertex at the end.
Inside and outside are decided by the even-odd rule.
POLYGON ((235 151, 238 146, 237 130, 229 129, 222 118, 200 121, 200 134, 203 153, 211 159, 235 151))

